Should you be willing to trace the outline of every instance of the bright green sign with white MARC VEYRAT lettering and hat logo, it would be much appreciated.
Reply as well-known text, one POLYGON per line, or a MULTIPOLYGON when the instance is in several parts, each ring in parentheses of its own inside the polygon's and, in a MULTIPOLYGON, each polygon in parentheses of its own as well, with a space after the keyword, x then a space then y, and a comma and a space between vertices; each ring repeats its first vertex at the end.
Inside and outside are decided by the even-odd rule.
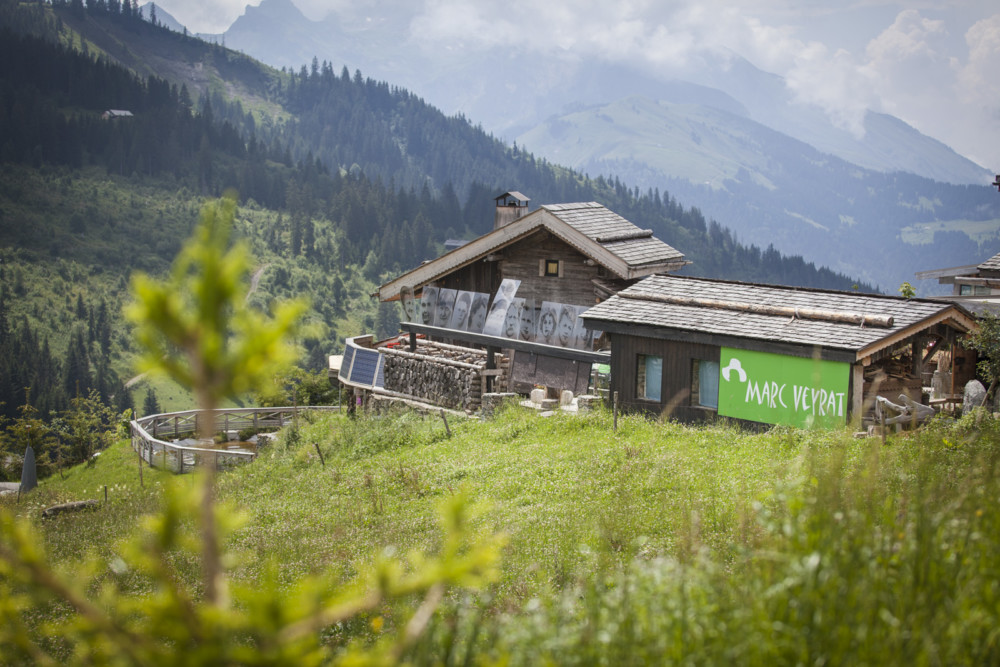
POLYGON ((847 423, 850 365, 722 348, 719 414, 799 428, 847 423))

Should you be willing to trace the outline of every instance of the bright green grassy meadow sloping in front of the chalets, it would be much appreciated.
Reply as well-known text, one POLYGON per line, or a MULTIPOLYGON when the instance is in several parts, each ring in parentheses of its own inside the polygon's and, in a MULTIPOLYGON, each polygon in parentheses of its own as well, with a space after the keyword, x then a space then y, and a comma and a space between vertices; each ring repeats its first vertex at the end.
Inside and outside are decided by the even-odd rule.
MULTIPOLYGON (((450 590, 404 656, 413 663, 1000 660, 993 419, 886 445, 640 417, 615 432, 601 411, 449 426, 450 437, 439 417, 408 412, 306 418, 222 474, 218 499, 244 518, 225 545, 234 584, 287 588, 322 572, 346 584, 380 554, 433 553, 436 507, 464 494, 467 531, 506 536, 501 566, 486 589, 450 590)), ((140 486, 121 443, 0 508, 31 520, 54 567, 72 572, 88 552, 114 562, 171 477, 144 468, 140 486), (105 485, 99 510, 39 518, 55 502, 103 501, 105 485)), ((197 562, 179 571, 198 579, 197 562)), ((141 578, 128 587, 145 594, 141 578)), ((58 615, 38 613, 39 628, 58 615)), ((391 626, 387 608, 323 641, 373 642, 383 617, 391 626)))

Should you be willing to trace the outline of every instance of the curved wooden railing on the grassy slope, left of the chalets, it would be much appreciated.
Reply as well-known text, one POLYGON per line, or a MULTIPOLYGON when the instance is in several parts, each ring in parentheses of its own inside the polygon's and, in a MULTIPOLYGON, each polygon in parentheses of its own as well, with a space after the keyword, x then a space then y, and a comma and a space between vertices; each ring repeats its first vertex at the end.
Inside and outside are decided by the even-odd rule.
POLYGON ((177 440, 193 436, 198 432, 199 421, 208 418, 212 418, 213 433, 228 435, 232 431, 274 431, 292 423, 297 413, 314 410, 339 411, 340 407, 234 408, 215 410, 211 414, 202 410, 185 410, 149 415, 132 420, 132 449, 149 465, 176 473, 189 472, 202 463, 214 464, 217 469, 222 470, 252 461, 257 454, 245 449, 226 449, 226 442, 207 447, 181 445, 161 438, 177 440))

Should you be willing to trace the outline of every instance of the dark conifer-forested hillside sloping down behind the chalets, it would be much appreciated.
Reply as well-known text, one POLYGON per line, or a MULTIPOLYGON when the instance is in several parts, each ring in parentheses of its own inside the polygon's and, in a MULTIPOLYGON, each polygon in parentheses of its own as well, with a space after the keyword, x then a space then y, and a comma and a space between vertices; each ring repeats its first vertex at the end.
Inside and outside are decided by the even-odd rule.
POLYGON ((133 373, 128 278, 165 270, 201 202, 227 190, 257 260, 250 298, 312 298, 319 326, 300 342, 313 369, 345 335, 393 331, 395 308, 368 297, 378 282, 446 238, 489 229, 492 198, 510 188, 536 204, 600 201, 701 275, 853 284, 742 246, 656 189, 536 160, 360 73, 271 70, 125 7, 0 0, 3 414, 26 396, 43 416, 90 390, 120 408, 141 399, 141 383, 122 389, 133 373))

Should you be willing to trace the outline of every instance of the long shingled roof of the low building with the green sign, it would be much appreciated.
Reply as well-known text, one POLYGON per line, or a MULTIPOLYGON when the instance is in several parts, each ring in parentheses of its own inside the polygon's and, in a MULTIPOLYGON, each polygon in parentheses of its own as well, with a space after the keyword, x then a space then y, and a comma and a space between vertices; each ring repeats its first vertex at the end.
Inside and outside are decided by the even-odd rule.
POLYGON ((976 325, 963 308, 930 299, 834 292, 680 276, 651 276, 583 313, 587 326, 652 338, 730 345, 752 339, 816 346, 860 360, 915 333, 950 321, 976 325))

